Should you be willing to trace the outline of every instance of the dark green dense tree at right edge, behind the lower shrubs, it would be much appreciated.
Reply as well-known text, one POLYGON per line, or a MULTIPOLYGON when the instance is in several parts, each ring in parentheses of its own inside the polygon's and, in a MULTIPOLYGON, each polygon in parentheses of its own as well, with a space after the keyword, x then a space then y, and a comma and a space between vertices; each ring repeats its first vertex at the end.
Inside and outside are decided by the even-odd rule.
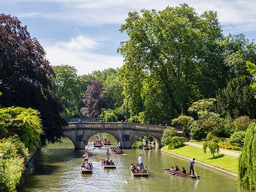
POLYGON ((223 117, 256 118, 256 91, 250 86, 252 82, 248 76, 236 77, 226 88, 218 90, 218 111, 223 117))

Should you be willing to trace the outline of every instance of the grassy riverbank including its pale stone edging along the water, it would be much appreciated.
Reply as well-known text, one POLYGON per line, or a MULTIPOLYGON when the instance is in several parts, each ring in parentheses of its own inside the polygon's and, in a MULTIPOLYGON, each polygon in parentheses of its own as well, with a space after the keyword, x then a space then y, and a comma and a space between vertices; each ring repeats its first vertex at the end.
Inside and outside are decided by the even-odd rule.
POLYGON ((212 158, 210 153, 204 154, 200 147, 190 145, 175 150, 168 150, 168 146, 164 146, 161 151, 187 160, 196 158, 196 163, 238 177, 237 157, 220 153, 216 158, 212 158))

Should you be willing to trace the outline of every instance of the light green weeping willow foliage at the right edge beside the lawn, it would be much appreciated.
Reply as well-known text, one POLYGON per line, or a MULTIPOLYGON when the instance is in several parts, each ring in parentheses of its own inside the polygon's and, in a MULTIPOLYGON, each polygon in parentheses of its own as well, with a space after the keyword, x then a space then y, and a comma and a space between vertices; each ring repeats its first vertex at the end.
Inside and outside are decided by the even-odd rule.
POLYGON ((256 123, 251 123, 244 139, 244 148, 238 158, 239 185, 256 189, 256 123))

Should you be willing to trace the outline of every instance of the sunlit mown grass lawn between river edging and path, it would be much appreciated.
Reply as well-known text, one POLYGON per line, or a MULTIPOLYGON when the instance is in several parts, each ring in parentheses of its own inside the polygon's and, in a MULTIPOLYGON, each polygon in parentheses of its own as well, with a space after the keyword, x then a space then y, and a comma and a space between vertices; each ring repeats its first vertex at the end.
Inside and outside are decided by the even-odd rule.
POLYGON ((168 150, 168 145, 162 147, 163 150, 187 157, 190 159, 196 158, 196 160, 204 162, 206 164, 222 168, 234 174, 238 174, 238 158, 224 155, 224 154, 215 154, 215 158, 207 152, 203 152, 202 148, 195 146, 185 145, 174 150, 168 150))

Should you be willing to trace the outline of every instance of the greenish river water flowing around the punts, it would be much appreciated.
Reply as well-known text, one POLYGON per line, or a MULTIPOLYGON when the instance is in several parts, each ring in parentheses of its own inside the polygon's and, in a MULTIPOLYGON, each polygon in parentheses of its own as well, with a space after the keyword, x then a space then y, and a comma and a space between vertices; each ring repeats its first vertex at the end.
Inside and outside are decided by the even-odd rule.
MULTIPOLYGON (((93 163, 93 174, 81 175, 78 171, 83 162, 84 150, 75 150, 69 139, 63 143, 49 144, 42 148, 41 153, 33 160, 33 165, 27 168, 18 192, 41 191, 90 191, 90 192, 115 192, 115 191, 175 191, 175 192, 248 192, 240 188, 237 178, 204 167, 195 163, 197 179, 184 178, 164 173, 162 168, 170 166, 183 166, 189 171, 188 161, 167 153, 159 148, 144 151, 144 165, 150 170, 148 177, 134 177, 130 173, 132 163, 137 163, 142 154, 138 146, 141 142, 134 143, 132 149, 124 150, 124 154, 111 154, 116 164, 116 169, 104 169, 99 165, 105 159, 106 147, 93 148, 89 142, 89 162, 93 163), (129 180, 129 182, 127 182, 129 180)), ((90 140, 89 140, 90 141, 90 140)), ((115 142, 114 140, 110 140, 115 142)))

